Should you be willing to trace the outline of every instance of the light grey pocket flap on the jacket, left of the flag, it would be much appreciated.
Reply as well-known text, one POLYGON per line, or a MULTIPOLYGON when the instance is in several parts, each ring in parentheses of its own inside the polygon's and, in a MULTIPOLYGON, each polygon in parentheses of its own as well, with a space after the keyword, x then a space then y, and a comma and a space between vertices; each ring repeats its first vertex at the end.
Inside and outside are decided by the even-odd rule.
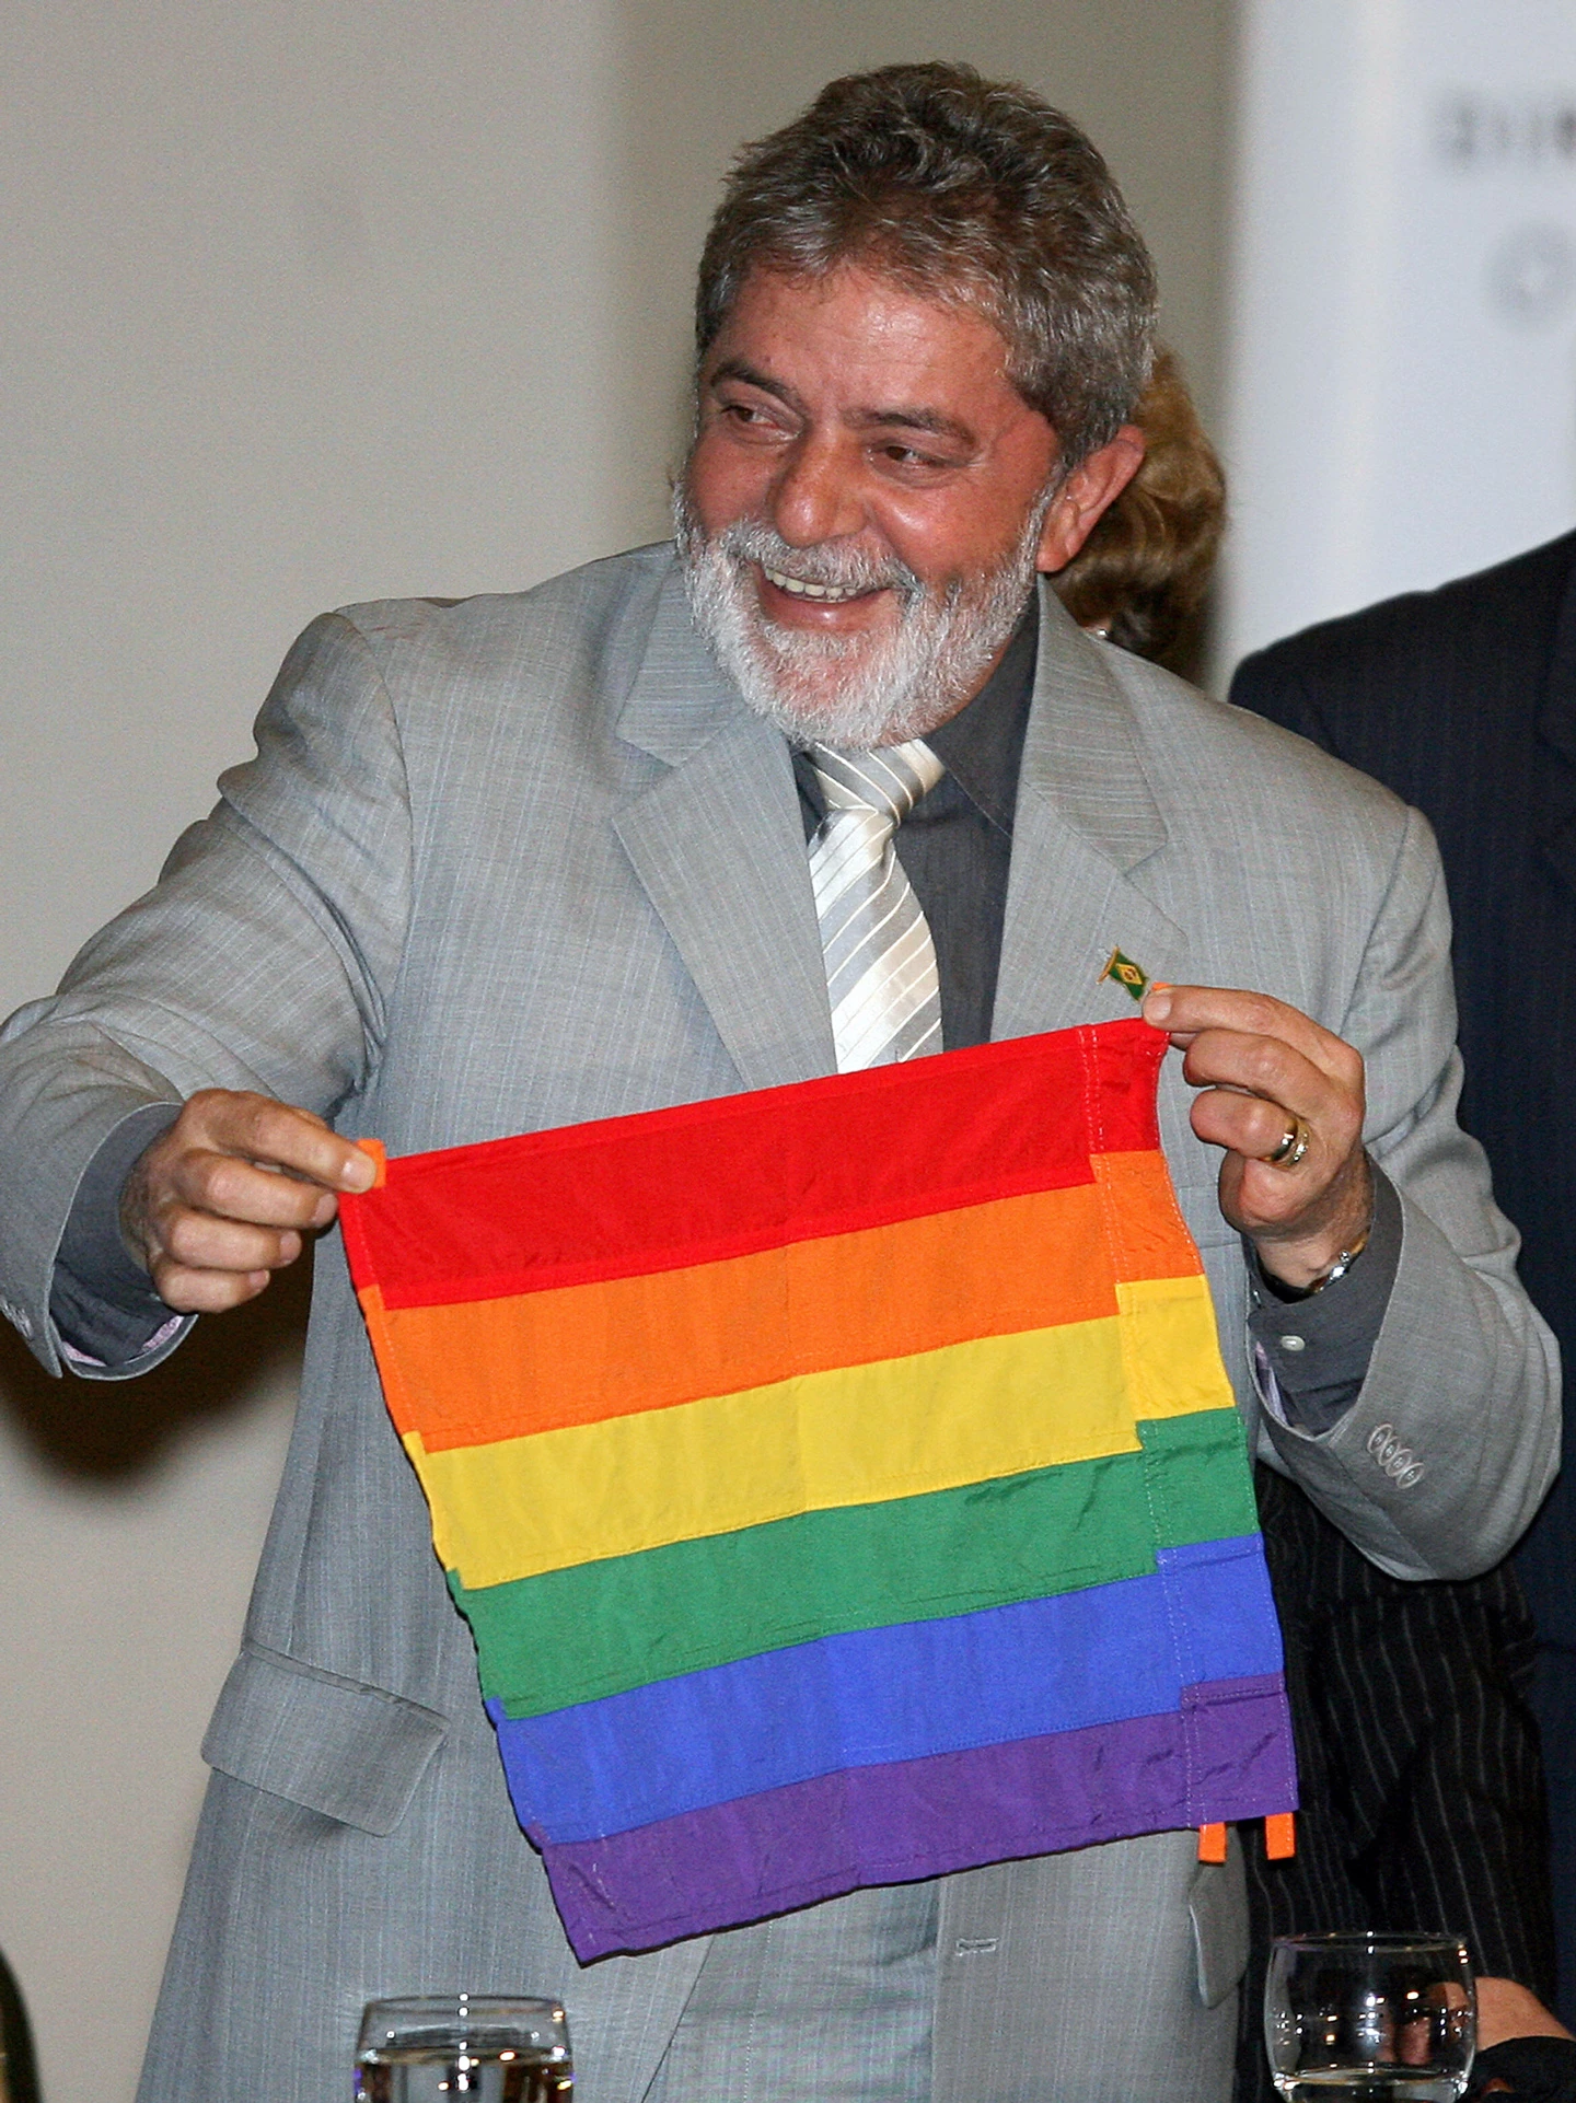
POLYGON ((307 1811, 389 1834, 444 1739, 431 1710, 246 1645, 229 1668, 202 1758, 307 1811))

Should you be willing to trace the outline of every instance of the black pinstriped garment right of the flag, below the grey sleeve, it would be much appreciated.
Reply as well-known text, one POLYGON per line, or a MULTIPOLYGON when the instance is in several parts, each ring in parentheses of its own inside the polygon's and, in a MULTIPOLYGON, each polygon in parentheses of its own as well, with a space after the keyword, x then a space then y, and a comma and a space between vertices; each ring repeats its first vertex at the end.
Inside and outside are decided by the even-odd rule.
POLYGON ((1481 1975, 1555 1998, 1534 1634, 1515 1571, 1387 1577, 1269 1468, 1258 1514, 1302 1809, 1290 1861, 1265 1859, 1260 1828, 1244 1834, 1237 2103, 1273 2103, 1260 2000, 1275 1935, 1448 1926, 1481 1975))

